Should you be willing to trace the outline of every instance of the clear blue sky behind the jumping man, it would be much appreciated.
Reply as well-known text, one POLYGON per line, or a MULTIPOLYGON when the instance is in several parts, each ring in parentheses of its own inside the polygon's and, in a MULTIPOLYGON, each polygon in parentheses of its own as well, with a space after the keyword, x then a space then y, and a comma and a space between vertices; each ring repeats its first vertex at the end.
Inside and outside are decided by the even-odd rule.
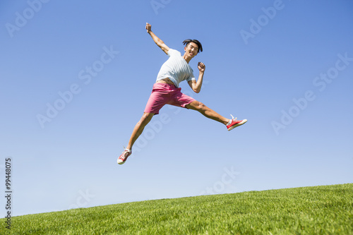
POLYGON ((352 183, 352 11, 348 0, 1 1, 12 215, 352 183), (228 132, 163 107, 118 165, 168 58, 146 22, 170 48, 203 44, 190 62, 196 76, 205 63, 203 88, 182 92, 249 121, 228 132))

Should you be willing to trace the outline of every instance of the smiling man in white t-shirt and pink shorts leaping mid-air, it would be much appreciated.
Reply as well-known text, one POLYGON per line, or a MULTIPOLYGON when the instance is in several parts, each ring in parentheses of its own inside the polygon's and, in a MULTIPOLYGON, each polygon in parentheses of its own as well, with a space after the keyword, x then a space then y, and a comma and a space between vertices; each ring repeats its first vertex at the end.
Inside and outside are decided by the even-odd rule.
POLYGON ((185 40, 183 43, 184 56, 177 50, 170 49, 159 37, 157 37, 151 30, 151 25, 146 23, 146 30, 148 34, 152 37, 152 40, 157 44, 162 51, 169 56, 169 59, 164 62, 160 68, 160 72, 157 75, 156 83, 153 85, 152 93, 150 99, 148 100, 145 112, 141 117, 140 121, 133 128, 133 133, 131 134, 130 140, 124 152, 120 155, 117 162, 119 164, 124 164, 128 156, 132 153, 133 143, 137 140, 138 136, 143 132, 145 126, 151 121, 152 117, 159 114, 160 109, 164 104, 172 104, 177 107, 183 107, 186 109, 193 109, 209 119, 213 119, 227 126, 228 131, 241 126, 246 123, 246 119, 237 120, 226 119, 224 116, 217 114, 212 109, 205 106, 205 104, 194 100, 192 97, 181 93, 181 88, 179 88, 179 83, 186 80, 191 89, 198 93, 201 91, 201 86, 203 83, 203 74, 205 73, 205 64, 198 62, 198 80, 193 76, 193 70, 189 66, 189 62, 193 57, 195 57, 198 52, 202 52, 202 45, 198 40, 185 40))

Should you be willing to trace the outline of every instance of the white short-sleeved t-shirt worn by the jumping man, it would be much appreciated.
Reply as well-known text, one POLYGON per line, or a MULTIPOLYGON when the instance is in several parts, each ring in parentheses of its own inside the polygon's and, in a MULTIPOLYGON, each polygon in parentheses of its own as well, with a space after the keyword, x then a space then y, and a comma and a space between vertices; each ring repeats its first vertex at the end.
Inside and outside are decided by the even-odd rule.
POLYGON ((179 88, 179 83, 183 80, 187 80, 188 82, 189 80, 196 80, 193 76, 193 69, 181 56, 180 52, 169 49, 168 56, 169 59, 160 68, 156 82, 164 78, 169 78, 179 88))

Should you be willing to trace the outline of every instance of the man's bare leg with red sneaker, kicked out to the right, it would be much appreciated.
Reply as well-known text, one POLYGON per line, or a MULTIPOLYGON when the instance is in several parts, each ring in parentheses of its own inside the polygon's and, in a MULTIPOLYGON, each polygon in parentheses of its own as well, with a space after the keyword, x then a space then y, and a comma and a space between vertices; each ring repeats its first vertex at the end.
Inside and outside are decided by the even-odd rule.
POLYGON ((246 119, 244 120, 226 119, 224 116, 218 114, 217 112, 213 111, 209 107, 205 106, 205 104, 198 102, 196 100, 191 102, 190 104, 187 104, 185 107, 187 109, 196 110, 201 114, 203 114, 203 116, 209 119, 213 119, 215 121, 225 124, 227 126, 228 131, 231 131, 233 128, 236 128, 237 126, 241 126, 244 123, 246 123, 246 121, 248 121, 246 119))

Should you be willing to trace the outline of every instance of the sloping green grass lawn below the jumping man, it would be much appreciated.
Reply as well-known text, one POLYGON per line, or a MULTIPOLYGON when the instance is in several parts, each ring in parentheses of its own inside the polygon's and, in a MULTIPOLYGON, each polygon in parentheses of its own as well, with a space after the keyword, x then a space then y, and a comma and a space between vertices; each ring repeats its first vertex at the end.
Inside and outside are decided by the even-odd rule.
POLYGON ((24 215, 11 234, 353 234, 353 183, 24 215))

